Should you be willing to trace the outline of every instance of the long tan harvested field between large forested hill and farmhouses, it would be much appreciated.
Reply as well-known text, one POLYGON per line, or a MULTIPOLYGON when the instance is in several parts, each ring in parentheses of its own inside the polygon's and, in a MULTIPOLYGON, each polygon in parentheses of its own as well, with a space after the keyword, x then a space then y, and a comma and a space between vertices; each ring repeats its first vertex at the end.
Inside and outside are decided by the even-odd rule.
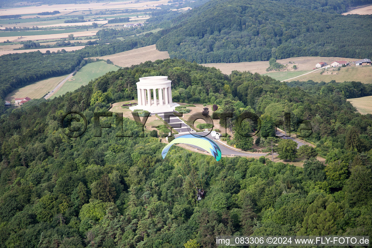
MULTIPOLYGON (((330 64, 335 60, 346 60, 346 61, 356 61, 359 59, 354 58, 340 58, 340 57, 292 57, 286 59, 278 59, 276 62, 286 65, 288 64, 288 71, 294 71, 292 68, 294 65, 297 66, 297 70, 306 71, 315 68, 318 62, 327 62, 330 64), (292 64, 289 64, 292 62, 292 64)), ((269 67, 269 61, 253 61, 253 62, 239 62, 239 63, 211 63, 211 64, 201 64, 207 67, 215 67, 221 70, 224 74, 230 74, 231 71, 250 71, 251 73, 265 74, 267 73, 266 68, 269 67)), ((287 71, 287 70, 283 70, 287 71)), ((275 72, 275 71, 272 71, 275 72)), ((271 73, 271 72, 269 72, 271 73)))

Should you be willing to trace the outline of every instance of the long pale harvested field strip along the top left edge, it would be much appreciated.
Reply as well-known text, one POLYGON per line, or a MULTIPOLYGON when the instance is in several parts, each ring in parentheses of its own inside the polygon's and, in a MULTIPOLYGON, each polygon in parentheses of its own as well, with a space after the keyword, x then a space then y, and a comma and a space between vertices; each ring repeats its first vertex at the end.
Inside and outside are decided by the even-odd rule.
POLYGON ((44 12, 53 12, 54 10, 60 10, 61 13, 67 14, 75 10, 109 10, 109 9, 147 9, 149 7, 157 6, 160 4, 166 4, 168 0, 158 0, 158 1, 120 1, 112 3, 84 3, 84 4, 43 4, 41 6, 27 6, 19 8, 1 9, 0 15, 25 15, 39 13, 42 9, 44 12))

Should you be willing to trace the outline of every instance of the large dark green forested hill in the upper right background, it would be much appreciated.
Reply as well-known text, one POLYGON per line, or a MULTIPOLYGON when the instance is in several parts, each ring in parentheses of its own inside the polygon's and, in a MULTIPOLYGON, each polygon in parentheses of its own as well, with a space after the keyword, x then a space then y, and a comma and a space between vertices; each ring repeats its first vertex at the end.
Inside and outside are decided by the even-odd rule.
POLYGON ((172 19, 173 30, 156 46, 171 58, 198 63, 372 57, 365 42, 371 38, 372 19, 335 14, 344 12, 339 3, 343 7, 331 1, 212 0, 172 19))

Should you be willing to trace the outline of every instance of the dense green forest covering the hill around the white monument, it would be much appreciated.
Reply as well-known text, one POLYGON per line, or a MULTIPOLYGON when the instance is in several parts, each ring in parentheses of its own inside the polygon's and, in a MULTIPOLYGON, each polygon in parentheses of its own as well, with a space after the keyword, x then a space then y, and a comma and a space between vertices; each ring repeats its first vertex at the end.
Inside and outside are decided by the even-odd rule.
POLYGON ((7 110, 0 116, 0 247, 181 248, 190 239, 214 247, 221 234, 371 236, 372 115, 346 101, 367 95, 372 87, 359 82, 280 83, 165 59, 7 110), (147 131, 140 138, 141 126, 126 118, 124 132, 134 137, 116 137, 114 125, 94 137, 93 112, 131 100, 138 78, 155 75, 169 75, 174 101, 251 111, 265 120, 288 111, 294 131, 296 119, 310 120, 309 139, 327 166, 313 158, 304 168, 264 158, 216 162, 179 147, 163 160, 165 144, 147 131), (78 138, 61 128, 69 111, 87 117, 78 138), (180 160, 209 169, 205 199, 196 202, 180 160))

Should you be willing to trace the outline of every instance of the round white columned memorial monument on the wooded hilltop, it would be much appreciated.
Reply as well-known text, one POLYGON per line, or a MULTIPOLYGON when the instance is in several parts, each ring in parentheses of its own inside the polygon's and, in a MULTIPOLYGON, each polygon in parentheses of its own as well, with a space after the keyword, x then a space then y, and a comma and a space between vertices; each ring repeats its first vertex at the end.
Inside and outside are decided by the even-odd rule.
POLYGON ((172 101, 171 82, 167 76, 141 77, 137 82, 138 105, 129 109, 143 109, 150 113, 172 112, 180 104, 172 101))

